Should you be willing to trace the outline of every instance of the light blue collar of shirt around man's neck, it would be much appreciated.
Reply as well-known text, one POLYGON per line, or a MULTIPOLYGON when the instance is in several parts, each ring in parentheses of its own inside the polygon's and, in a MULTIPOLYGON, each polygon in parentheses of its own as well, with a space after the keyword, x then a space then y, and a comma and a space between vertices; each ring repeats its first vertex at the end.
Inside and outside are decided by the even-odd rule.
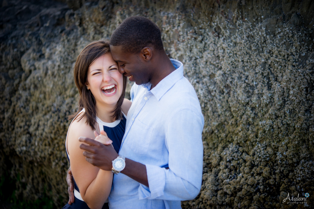
POLYGON ((170 61, 176 68, 175 71, 167 75, 152 90, 150 90, 150 87, 152 86, 151 83, 142 85, 144 88, 150 90, 150 92, 157 98, 158 101, 178 80, 183 77, 183 64, 175 59, 170 59, 170 61))

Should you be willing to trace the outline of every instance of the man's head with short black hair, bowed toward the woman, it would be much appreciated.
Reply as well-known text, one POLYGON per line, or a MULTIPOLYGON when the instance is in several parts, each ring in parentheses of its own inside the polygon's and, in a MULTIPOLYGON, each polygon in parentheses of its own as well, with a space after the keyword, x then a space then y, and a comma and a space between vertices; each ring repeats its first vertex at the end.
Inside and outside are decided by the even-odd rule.
POLYGON ((125 19, 113 32, 110 49, 119 71, 131 81, 141 85, 158 80, 158 57, 165 51, 160 29, 148 18, 133 16, 125 19))

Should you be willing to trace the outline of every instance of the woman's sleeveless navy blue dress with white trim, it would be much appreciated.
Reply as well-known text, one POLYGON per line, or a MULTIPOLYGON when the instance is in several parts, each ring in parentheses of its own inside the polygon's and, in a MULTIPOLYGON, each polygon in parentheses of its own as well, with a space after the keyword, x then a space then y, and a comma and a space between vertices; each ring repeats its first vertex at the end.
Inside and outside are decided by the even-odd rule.
MULTIPOLYGON (((126 118, 124 117, 124 115, 123 115, 123 119, 120 120, 120 122, 118 124, 116 124, 114 127, 108 127, 106 125, 103 125, 103 124, 107 124, 107 123, 102 122, 99 118, 97 118, 96 121, 99 124, 99 128, 101 126, 104 128, 104 131, 107 133, 108 138, 112 140, 113 148, 116 150, 117 153, 119 153, 122 138, 123 138, 123 135, 125 132, 125 124, 127 121, 126 118)), ((111 124, 113 124, 113 123, 111 123, 111 124)), ((68 151, 67 151, 67 156, 68 156, 68 151)), ((70 162, 69 156, 68 156, 68 160, 70 162)), ((74 189, 79 192, 78 186, 76 185, 74 179, 73 179, 73 181, 74 181, 74 189)), ((86 202, 79 200, 75 196, 74 196, 74 198, 75 198, 75 200, 71 205, 69 205, 67 203, 65 206, 62 207, 62 209, 89 209, 86 202)), ((107 202, 104 204, 102 209, 109 209, 107 202)))

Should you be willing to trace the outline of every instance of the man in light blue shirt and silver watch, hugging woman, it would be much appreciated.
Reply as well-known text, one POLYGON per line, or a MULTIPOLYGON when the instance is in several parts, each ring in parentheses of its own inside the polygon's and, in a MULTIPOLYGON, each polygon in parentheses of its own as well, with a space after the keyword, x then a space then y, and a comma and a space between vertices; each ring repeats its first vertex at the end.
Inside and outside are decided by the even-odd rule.
POLYGON ((164 51, 160 29, 134 16, 113 32, 111 53, 130 81, 132 106, 119 154, 80 137, 86 160, 114 173, 109 207, 181 208, 201 188, 204 119, 183 65, 164 51), (125 160, 124 160, 125 158, 125 160), (121 170, 121 171, 120 171, 121 170), (120 173, 119 173, 120 172, 120 173))

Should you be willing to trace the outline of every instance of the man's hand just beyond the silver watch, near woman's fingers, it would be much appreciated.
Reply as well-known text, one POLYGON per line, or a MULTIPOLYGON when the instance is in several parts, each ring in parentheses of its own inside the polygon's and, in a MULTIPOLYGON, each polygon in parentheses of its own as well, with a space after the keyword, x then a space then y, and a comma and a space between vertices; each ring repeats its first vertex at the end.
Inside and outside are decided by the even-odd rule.
POLYGON ((95 141, 86 137, 79 137, 79 141, 85 142, 88 145, 81 144, 79 147, 86 157, 86 161, 90 164, 106 171, 111 171, 112 161, 118 157, 112 145, 103 145, 99 141, 95 141))

